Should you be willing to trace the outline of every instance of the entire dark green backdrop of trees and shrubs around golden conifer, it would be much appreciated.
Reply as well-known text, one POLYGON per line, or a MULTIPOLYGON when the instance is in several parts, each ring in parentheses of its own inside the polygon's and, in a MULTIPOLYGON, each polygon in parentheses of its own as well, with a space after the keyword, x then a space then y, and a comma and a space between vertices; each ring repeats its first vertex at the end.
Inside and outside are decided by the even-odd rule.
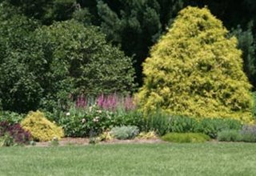
POLYGON ((38 106, 49 108, 49 104, 56 103, 56 98, 66 97, 70 92, 107 94, 108 91, 134 90, 136 84, 141 86, 142 62, 148 56, 150 47, 166 33, 178 11, 186 6, 208 6, 212 14, 221 19, 224 26, 230 30, 230 35, 238 37, 238 47, 243 51, 244 70, 254 89, 256 87, 256 2, 253 0, 0 2, 0 95, 5 110, 27 111, 35 110, 38 106), (69 21, 66 23, 58 23, 67 20, 69 21), (58 34, 67 37, 62 38, 60 42, 61 36, 58 34), (90 38, 87 38, 88 34, 91 34, 90 38), (95 42, 94 38, 98 38, 98 42, 95 42), (83 41, 94 42, 82 46, 83 41), (81 51, 88 55, 81 56, 81 51), (63 61, 63 57, 65 62, 62 65, 47 60, 57 58, 57 61, 63 61), (81 57, 91 58, 93 62, 84 63, 79 60, 81 57), (122 63, 115 62, 117 59, 121 59, 122 63), (133 68, 130 66, 130 59, 133 68), (106 68, 104 64, 108 66, 107 69, 102 69, 106 68), (84 65, 87 69, 78 69, 84 65), (102 68, 98 69, 98 73, 91 72, 99 66, 102 68), (88 78, 87 73, 92 73, 91 77, 88 78), (97 79, 95 75, 98 75, 97 79), (103 78, 102 75, 107 77, 103 78), (31 80, 33 82, 30 82, 31 80), (99 83, 93 80, 102 80, 101 85, 95 87, 99 83), (90 83, 91 85, 88 85, 90 83), (50 90, 47 90, 49 87, 50 90))

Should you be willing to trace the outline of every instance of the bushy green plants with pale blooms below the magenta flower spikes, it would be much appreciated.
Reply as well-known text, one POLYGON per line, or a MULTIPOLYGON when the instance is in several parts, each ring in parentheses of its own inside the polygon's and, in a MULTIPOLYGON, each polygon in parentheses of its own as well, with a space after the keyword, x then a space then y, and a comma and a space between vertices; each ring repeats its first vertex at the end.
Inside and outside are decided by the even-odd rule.
POLYGON ((101 109, 96 104, 86 107, 70 106, 68 112, 58 113, 57 120, 69 137, 89 137, 92 131, 98 135, 114 126, 143 126, 142 114, 136 110, 113 112, 101 109))

